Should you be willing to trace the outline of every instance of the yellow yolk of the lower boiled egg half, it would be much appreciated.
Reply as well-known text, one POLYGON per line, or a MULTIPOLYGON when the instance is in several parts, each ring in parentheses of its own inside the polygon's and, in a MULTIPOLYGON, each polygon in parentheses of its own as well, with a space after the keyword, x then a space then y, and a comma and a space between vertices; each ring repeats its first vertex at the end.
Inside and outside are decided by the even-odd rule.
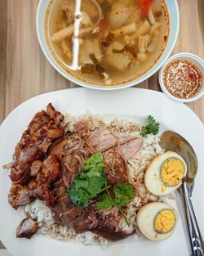
POLYGON ((166 234, 175 227, 175 213, 171 209, 163 209, 154 219, 154 230, 159 234, 166 234))

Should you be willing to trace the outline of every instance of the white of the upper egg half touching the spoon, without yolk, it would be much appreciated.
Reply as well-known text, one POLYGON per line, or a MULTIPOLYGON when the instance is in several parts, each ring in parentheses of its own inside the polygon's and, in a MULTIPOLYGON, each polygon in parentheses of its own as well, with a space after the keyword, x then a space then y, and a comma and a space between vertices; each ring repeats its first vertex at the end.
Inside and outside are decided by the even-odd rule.
POLYGON ((155 159, 153 159, 152 163, 149 164, 149 168, 146 170, 144 174, 144 184, 153 195, 168 195, 175 191, 181 184, 182 181, 177 186, 166 186, 160 177, 160 170, 163 162, 166 159, 171 157, 175 157, 180 159, 182 163, 184 163, 184 176, 187 173, 187 165, 184 159, 173 151, 166 151, 162 155, 158 155, 155 159), (162 186, 166 186, 166 190, 162 191, 162 186))

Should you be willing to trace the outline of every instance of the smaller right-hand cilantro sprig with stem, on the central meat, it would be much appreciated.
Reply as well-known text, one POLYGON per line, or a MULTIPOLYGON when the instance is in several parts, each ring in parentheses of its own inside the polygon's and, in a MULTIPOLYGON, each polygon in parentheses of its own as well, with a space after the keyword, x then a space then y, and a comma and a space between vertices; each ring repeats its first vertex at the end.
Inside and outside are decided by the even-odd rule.
POLYGON ((104 194, 102 199, 95 204, 96 209, 111 209, 112 207, 118 208, 122 217, 125 219, 126 224, 129 226, 129 222, 126 219, 126 215, 122 211, 122 206, 129 204, 135 197, 135 189, 131 184, 118 183, 113 187, 115 197, 104 194))

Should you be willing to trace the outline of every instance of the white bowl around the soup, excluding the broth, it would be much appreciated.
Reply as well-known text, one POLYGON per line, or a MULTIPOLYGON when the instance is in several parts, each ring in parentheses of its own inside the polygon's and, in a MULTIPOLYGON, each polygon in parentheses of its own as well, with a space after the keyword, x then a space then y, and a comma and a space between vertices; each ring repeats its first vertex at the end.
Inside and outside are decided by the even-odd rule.
POLYGON ((83 82, 82 80, 75 78, 72 74, 69 74, 68 72, 66 72, 64 68, 59 63, 57 63, 57 61, 55 61, 54 56, 52 56, 51 51, 47 45, 47 40, 46 40, 45 30, 44 30, 45 29, 44 20, 46 16, 47 7, 50 1, 51 0, 40 0, 38 4, 36 27, 37 27, 37 33, 38 33, 38 41, 40 43, 40 46, 42 47, 42 52, 45 54, 45 56, 47 56, 47 60, 51 63, 51 65, 55 68, 55 70, 57 70, 60 74, 62 74, 64 78, 69 79, 73 83, 78 83, 79 85, 86 88, 92 88, 92 89, 98 89, 98 90, 116 90, 116 89, 128 88, 128 87, 134 86, 135 84, 143 82, 144 80, 152 76, 154 73, 156 73, 157 70, 159 70, 161 66, 164 64, 164 62, 170 56, 179 34, 180 12, 179 12, 177 1, 165 0, 166 7, 168 9, 169 16, 170 16, 170 32, 169 32, 169 38, 168 38, 168 42, 166 44, 165 50, 164 52, 162 52, 162 56, 159 58, 157 63, 153 65, 153 67, 148 72, 140 76, 140 78, 132 80, 129 83, 123 83, 117 86, 116 85, 114 86, 92 85, 91 83, 83 82))

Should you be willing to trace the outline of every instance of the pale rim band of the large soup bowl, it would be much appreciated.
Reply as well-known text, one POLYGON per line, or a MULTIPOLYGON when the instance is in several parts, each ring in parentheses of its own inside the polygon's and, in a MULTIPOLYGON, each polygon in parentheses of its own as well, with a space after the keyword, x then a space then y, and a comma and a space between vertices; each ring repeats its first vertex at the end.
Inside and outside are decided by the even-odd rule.
MULTIPOLYGON (((48 1, 50 1, 50 0, 48 0, 48 1)), ((166 2, 166 0, 164 0, 164 1, 166 2)), ((123 89, 123 88, 130 88, 132 86, 135 86, 137 84, 140 84, 140 83, 144 82, 146 79, 149 79, 151 76, 153 76, 153 74, 155 74, 162 67, 162 65, 165 63, 165 61, 171 55, 171 52, 173 51, 173 48, 175 47, 175 43, 176 43, 176 40, 178 38, 178 34, 179 34, 179 30, 180 30, 180 11, 179 11, 179 7, 178 7, 178 2, 177 2, 177 0, 171 0, 171 5, 173 5, 175 7, 175 9, 174 9, 174 11, 175 11, 174 20, 176 20, 177 25, 175 26, 175 33, 174 33, 174 37, 172 39, 172 43, 171 44, 168 44, 168 42, 166 43, 166 47, 165 47, 164 51, 162 52, 162 55, 158 59, 158 61, 161 61, 162 56, 164 54, 166 54, 166 56, 163 57, 163 60, 159 64, 158 64, 158 61, 157 61, 157 63, 155 65, 153 65, 153 67, 150 68, 150 70, 148 70, 145 74, 141 75, 137 79, 131 80, 130 82, 121 83, 121 84, 112 85, 112 86, 111 85, 107 86, 107 85, 91 84, 91 83, 82 81, 82 80, 74 77, 72 74, 69 74, 68 72, 66 72, 66 70, 64 70, 57 63, 57 61, 51 60, 51 57, 46 52, 45 46, 42 43, 42 38, 41 38, 41 36, 45 38, 45 33, 43 31, 43 33, 41 34, 41 32, 40 32, 40 25, 39 25, 39 20, 40 20, 39 16, 40 16, 40 11, 41 11, 43 3, 44 3, 44 0, 39 0, 39 2, 38 2, 38 9, 37 9, 37 15, 36 15, 36 30, 37 30, 37 35, 38 35, 38 42, 40 44, 42 52, 47 57, 47 61, 50 62, 52 67, 58 73, 60 73, 65 79, 68 79, 70 82, 76 83, 77 85, 82 86, 84 88, 91 88, 91 89, 102 90, 102 91, 119 90, 119 89, 123 89), (167 47, 168 47, 168 50, 166 50, 167 47), (149 73, 149 74, 147 74, 147 73, 149 73)), ((172 19, 172 17, 170 16, 170 20, 171 19, 172 19)), ((43 29, 44 29, 44 24, 43 24, 43 29)), ((169 32, 169 34, 171 34, 171 23, 170 23, 170 32, 169 32)), ((48 47, 48 45, 47 45, 47 47, 48 47)), ((49 49, 49 51, 50 51, 50 49, 49 49)))

